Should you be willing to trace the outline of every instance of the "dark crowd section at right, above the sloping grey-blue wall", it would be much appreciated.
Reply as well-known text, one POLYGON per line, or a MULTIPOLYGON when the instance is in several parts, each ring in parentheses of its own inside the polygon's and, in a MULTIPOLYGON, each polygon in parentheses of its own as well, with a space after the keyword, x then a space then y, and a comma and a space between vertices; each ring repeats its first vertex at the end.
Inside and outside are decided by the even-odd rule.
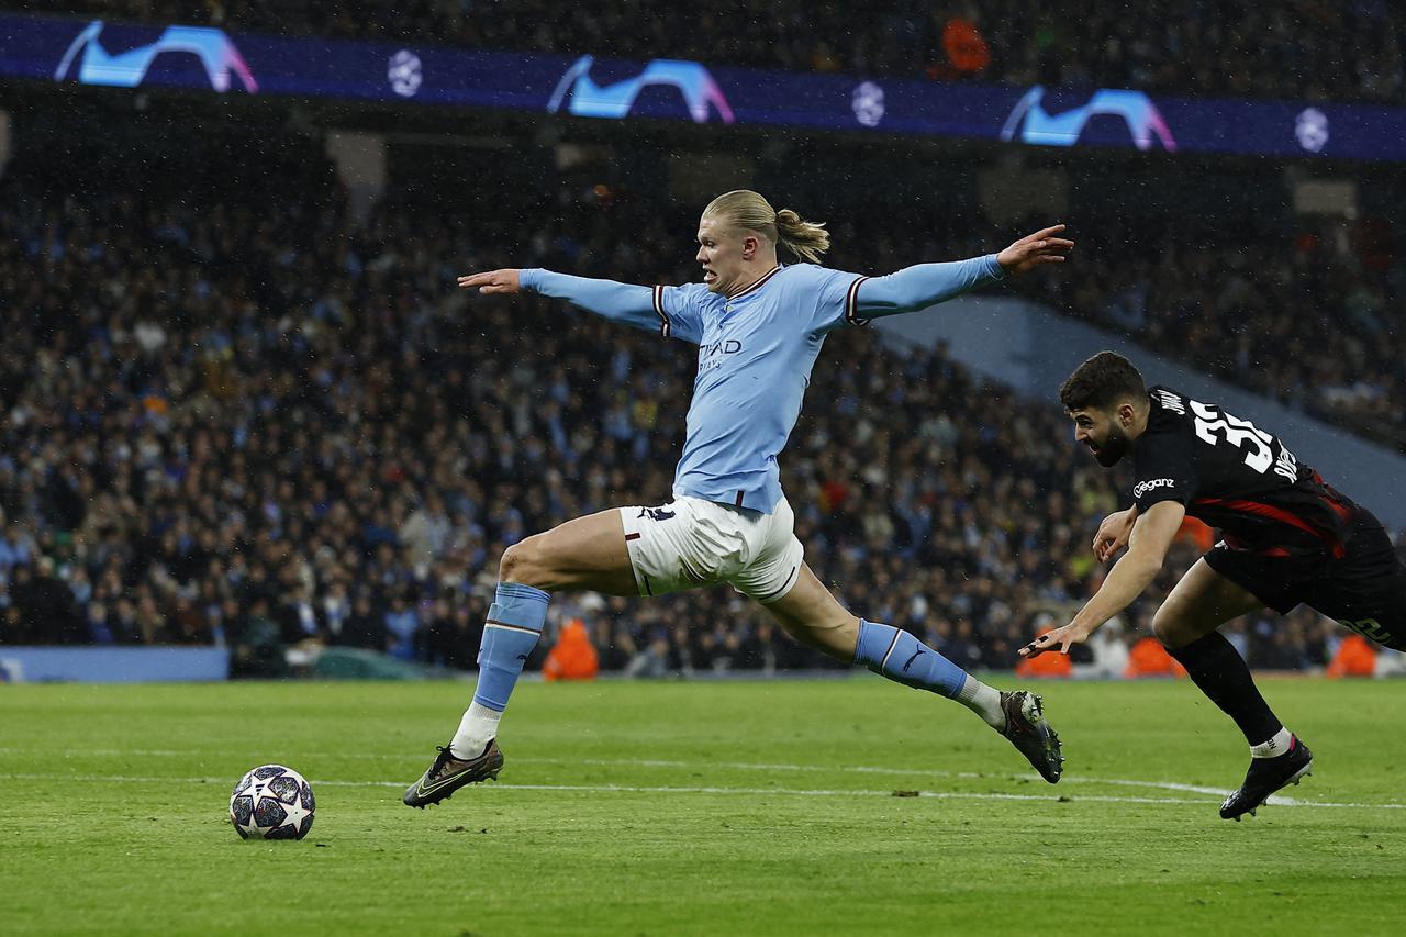
POLYGON ((1406 452, 1406 257, 1385 217, 1220 242, 1168 228, 1139 243, 1092 225, 1084 246, 1099 263, 1028 295, 1406 452))

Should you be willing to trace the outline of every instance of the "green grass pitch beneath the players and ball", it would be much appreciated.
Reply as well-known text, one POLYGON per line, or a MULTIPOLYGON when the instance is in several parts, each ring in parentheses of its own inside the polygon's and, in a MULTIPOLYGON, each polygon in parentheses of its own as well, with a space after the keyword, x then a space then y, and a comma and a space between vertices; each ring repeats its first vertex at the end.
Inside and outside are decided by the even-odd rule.
POLYGON ((1226 823, 1247 753, 1185 681, 1043 687, 1057 786, 869 675, 524 684, 501 782, 425 812, 471 684, 0 687, 0 930, 1400 933, 1406 682, 1264 689, 1315 775, 1226 823), (301 843, 229 826, 267 761, 301 843))

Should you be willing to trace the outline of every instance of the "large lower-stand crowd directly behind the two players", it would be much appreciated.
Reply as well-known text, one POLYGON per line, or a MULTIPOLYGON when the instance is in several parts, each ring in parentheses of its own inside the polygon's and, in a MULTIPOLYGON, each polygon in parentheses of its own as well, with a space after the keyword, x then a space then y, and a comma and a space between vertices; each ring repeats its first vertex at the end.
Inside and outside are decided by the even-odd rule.
MULTIPOLYGON (((319 170, 209 204, 0 179, 0 642, 222 642, 242 675, 321 644, 472 667, 508 544, 668 499, 695 371, 688 345, 451 287, 509 264, 683 281, 693 207, 520 197, 468 219, 388 198, 361 224, 319 170)), ((993 246, 834 231, 834 266, 859 270, 993 246)), ((1091 592, 1122 477, 1057 405, 869 329, 832 335, 813 384, 783 484, 848 606, 1008 668, 1091 592)), ((554 609, 607 670, 830 665, 727 589, 554 609)), ((1236 630, 1258 667, 1320 664, 1337 637, 1306 611, 1236 630)))

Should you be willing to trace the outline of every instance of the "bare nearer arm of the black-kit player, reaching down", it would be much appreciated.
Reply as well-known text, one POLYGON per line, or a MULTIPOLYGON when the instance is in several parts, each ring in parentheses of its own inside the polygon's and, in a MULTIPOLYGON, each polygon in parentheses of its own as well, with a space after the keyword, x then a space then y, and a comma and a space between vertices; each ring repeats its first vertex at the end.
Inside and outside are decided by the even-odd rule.
POLYGON ((1147 508, 1133 523, 1128 553, 1114 564, 1088 605, 1064 627, 1045 632, 1022 647, 1021 657, 1036 657, 1045 651, 1067 654, 1070 647, 1088 640, 1104 622, 1128 608, 1157 575, 1185 516, 1187 508, 1177 501, 1159 501, 1147 508))

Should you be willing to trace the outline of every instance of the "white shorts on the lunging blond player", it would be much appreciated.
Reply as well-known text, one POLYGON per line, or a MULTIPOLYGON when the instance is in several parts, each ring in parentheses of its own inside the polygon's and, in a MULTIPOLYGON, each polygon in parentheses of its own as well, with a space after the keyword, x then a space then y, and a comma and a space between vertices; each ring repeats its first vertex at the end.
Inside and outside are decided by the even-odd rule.
POLYGON ((620 508, 640 595, 730 584, 768 605, 800 575, 804 550, 782 498, 772 514, 675 495, 661 508, 620 508))

